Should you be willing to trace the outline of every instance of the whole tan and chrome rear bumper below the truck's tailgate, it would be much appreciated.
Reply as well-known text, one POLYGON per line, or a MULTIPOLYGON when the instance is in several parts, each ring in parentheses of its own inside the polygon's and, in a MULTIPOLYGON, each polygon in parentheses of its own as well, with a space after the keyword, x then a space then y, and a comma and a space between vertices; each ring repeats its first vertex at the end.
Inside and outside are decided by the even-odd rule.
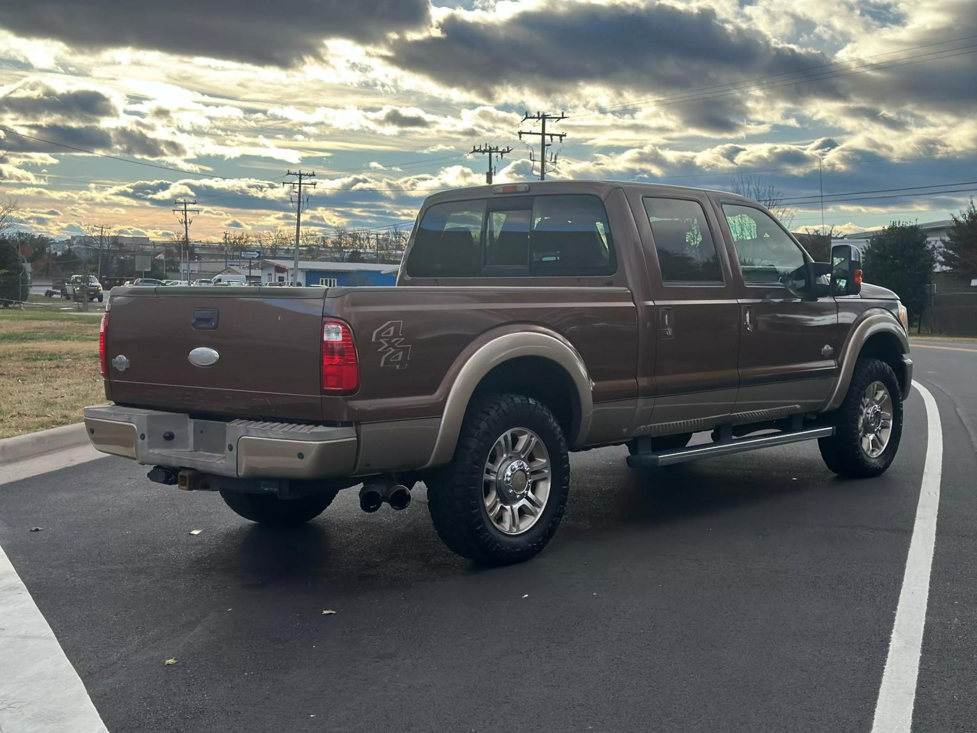
POLYGON ((348 476, 357 432, 264 420, 228 422, 181 412, 101 405, 85 408, 85 428, 103 453, 144 465, 193 468, 234 478, 318 479, 348 476))

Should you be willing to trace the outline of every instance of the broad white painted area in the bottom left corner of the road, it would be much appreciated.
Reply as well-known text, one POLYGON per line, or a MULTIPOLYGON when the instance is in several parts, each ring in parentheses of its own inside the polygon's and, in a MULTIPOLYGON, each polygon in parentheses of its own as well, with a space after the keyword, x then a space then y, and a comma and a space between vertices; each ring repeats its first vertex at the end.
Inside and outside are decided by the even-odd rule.
POLYGON ((78 672, 0 547, 0 731, 107 733, 78 672))

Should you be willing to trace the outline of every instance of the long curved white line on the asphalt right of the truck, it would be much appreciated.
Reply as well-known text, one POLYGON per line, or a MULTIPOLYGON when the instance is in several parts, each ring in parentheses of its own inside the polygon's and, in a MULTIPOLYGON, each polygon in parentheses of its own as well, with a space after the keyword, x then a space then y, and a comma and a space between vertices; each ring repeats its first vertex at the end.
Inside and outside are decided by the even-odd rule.
POLYGON ((913 539, 910 540, 910 552, 906 558, 896 621, 892 626, 889 656, 885 660, 882 686, 875 704, 872 733, 909 733, 913 725, 916 677, 929 597, 929 573, 933 566, 933 548, 936 546, 936 515, 940 508, 940 479, 943 475, 943 428, 933 395, 916 381, 913 381, 913 387, 926 406, 926 462, 922 468, 913 539))

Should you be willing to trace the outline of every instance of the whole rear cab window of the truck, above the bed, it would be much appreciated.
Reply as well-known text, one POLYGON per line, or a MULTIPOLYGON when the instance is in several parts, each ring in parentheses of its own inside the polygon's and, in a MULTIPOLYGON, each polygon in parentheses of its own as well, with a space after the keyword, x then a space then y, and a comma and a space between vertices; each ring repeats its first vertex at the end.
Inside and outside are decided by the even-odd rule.
POLYGON ((407 275, 586 277, 616 272, 600 198, 524 196, 509 205, 513 200, 452 201, 429 208, 414 237, 407 275))

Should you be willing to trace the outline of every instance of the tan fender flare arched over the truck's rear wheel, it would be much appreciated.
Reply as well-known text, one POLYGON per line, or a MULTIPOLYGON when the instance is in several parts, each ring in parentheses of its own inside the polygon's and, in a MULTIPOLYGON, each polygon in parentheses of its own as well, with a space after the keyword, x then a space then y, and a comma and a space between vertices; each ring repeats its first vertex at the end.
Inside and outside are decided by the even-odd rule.
POLYGON ((520 357, 542 357, 555 362, 570 375, 579 400, 579 424, 576 435, 567 436, 570 447, 578 448, 590 429, 593 414, 592 382, 583 359, 571 344, 556 334, 538 330, 504 333, 492 338, 467 358, 448 392, 445 411, 438 428, 431 458, 422 468, 447 463, 454 454, 465 410, 479 382, 494 367, 520 357))

